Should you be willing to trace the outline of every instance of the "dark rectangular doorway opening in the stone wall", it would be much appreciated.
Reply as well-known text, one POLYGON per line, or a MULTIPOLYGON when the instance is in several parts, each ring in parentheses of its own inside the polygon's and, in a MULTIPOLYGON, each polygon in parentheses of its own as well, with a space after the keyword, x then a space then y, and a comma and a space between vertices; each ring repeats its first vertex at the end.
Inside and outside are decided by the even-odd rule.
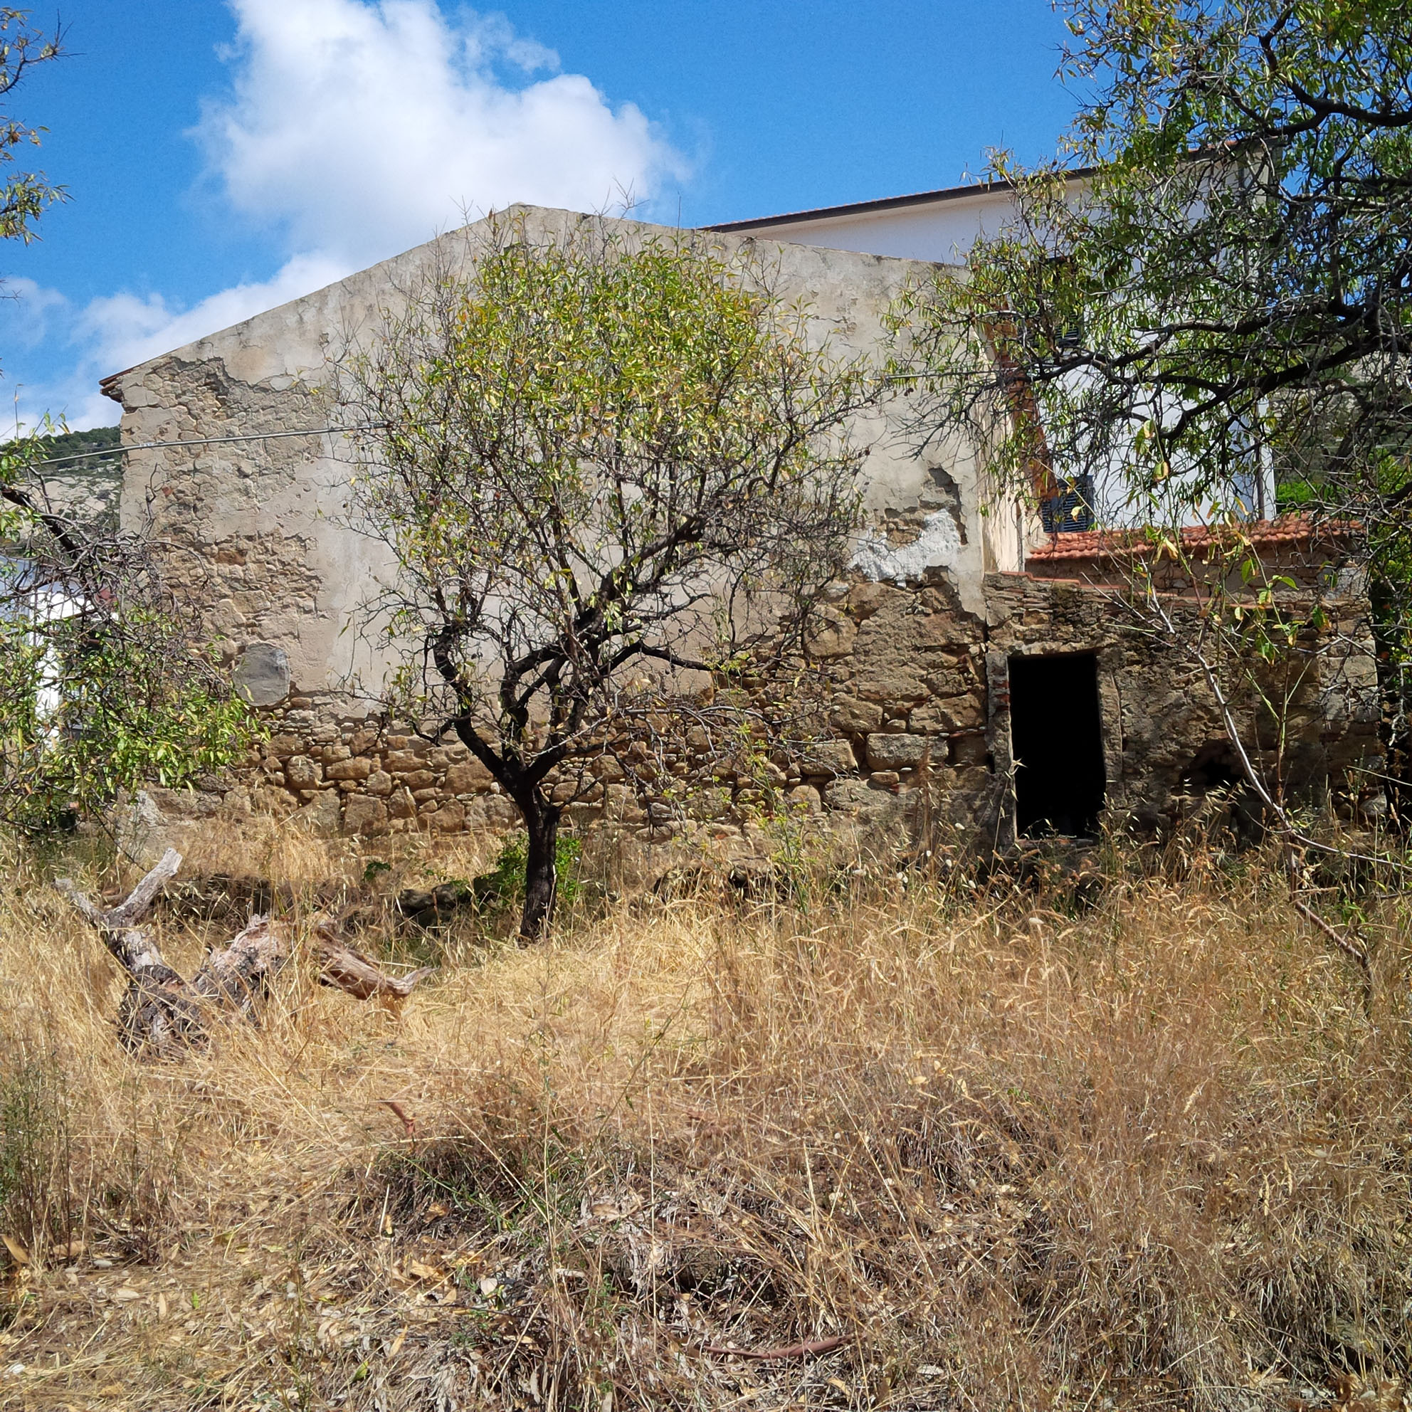
POLYGON ((1015 832, 1099 832, 1103 724, 1099 659, 1091 652, 1010 659, 1010 744, 1015 832))

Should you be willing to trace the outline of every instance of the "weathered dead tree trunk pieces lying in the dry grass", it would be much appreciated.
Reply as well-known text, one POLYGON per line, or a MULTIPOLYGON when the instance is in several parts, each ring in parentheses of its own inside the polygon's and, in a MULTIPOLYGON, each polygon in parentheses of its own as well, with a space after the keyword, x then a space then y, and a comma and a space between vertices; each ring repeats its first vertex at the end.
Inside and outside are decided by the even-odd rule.
MULTIPOLYGON (((212 950, 191 981, 184 980, 162 959, 148 929, 138 925, 178 867, 181 854, 168 849, 127 899, 107 909, 85 897, 69 878, 54 884, 92 923, 109 953, 127 971, 117 1031, 131 1051, 172 1055, 203 1045, 209 1038, 206 1017, 210 1011, 236 1014, 257 1024, 270 981, 292 950, 288 923, 251 916, 226 946, 212 950)), ((356 1000, 373 995, 405 1000, 432 970, 428 966, 401 979, 387 976, 361 952, 339 940, 328 922, 316 925, 313 949, 322 963, 319 983, 356 1000)))

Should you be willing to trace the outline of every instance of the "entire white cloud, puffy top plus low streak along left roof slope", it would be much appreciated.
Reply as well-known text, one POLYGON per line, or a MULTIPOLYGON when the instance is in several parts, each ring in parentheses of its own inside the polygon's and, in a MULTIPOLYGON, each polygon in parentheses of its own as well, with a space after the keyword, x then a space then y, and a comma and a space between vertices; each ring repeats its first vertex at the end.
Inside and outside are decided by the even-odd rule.
POLYGON ((18 385, 21 419, 66 414, 76 428, 116 421, 100 377, 395 254, 438 230, 524 201, 600 210, 647 202, 683 175, 674 148, 631 103, 611 106, 587 78, 559 73, 552 49, 501 16, 435 0, 230 0, 232 95, 209 100, 193 136, 223 198, 278 232, 285 264, 182 308, 119 292, 75 309, 14 280, 11 349, 69 345, 71 371, 18 385), (538 78, 535 75, 539 75, 538 78))

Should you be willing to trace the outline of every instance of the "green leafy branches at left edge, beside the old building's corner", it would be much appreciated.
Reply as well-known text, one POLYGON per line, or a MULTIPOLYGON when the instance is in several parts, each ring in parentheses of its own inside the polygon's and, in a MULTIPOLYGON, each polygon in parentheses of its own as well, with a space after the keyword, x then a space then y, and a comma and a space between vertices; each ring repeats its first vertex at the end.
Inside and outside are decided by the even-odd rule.
POLYGON ((51 827, 240 755, 253 722, 141 535, 48 501, 0 450, 0 819, 51 827))

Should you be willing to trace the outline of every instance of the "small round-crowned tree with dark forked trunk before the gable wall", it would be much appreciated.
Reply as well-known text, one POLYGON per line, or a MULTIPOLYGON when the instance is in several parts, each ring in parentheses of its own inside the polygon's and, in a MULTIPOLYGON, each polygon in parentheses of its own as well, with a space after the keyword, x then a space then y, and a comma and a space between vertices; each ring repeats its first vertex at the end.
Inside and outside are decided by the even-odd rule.
POLYGON ((798 650, 857 515, 842 428, 863 371, 810 345, 768 271, 603 222, 493 227, 343 367, 353 513, 417 642, 407 683, 524 815, 522 931, 554 898, 563 806, 634 723, 798 650))

